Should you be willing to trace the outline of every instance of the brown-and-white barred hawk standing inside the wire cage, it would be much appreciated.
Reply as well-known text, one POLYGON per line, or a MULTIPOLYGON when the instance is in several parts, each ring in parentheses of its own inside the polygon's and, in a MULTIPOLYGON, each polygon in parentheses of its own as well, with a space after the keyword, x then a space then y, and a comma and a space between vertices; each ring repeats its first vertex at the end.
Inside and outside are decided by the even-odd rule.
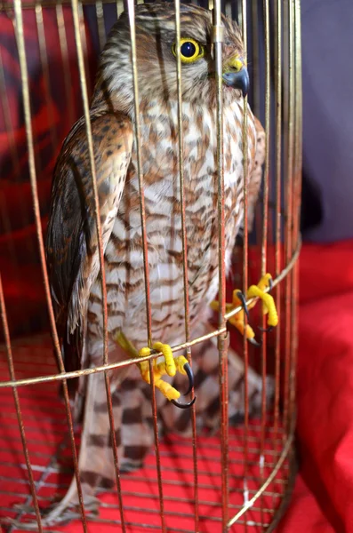
MULTIPOLYGON (((139 158, 134 129, 134 85, 129 17, 123 13, 100 56, 90 107, 107 286, 108 360, 160 353, 152 363, 156 405, 164 429, 188 434, 189 407, 181 402, 183 379, 195 385, 197 424, 219 423, 218 350, 215 338, 193 347, 192 370, 171 346, 185 342, 183 239, 180 165, 184 177, 190 337, 209 332, 211 303, 219 285, 218 164, 213 16, 181 5, 181 127, 179 162, 177 49, 172 4, 140 4, 135 12, 140 174, 143 177, 146 261, 140 213, 139 158), (150 302, 152 344, 148 346, 150 302), (195 377, 195 379, 194 379, 195 377)), ((249 87, 246 58, 237 24, 222 17, 222 98, 224 122, 225 265, 244 219, 243 125, 249 87)), ((247 109, 249 212, 261 186, 265 133, 247 109)), ((66 370, 103 364, 103 313, 100 259, 92 172, 84 117, 69 132, 52 182, 46 257, 52 301, 66 370)), ((256 288, 276 325, 273 300, 265 295, 269 277, 256 288)), ((235 293, 240 297, 240 293, 235 293)), ((244 298, 243 298, 244 299, 244 298)), ((239 300, 235 298, 237 303, 239 300)), ((243 300, 240 300, 243 301, 243 300)), ((213 304, 214 306, 214 304, 213 304)), ((230 307, 231 308, 231 307, 230 307)), ((239 325, 242 321, 235 320, 239 325)), ((238 326, 237 326, 238 327, 238 326)), ((240 330, 242 324, 239 325, 240 330)), ((245 334, 252 338, 251 333, 245 334)), ((244 365, 229 349, 229 416, 244 409, 244 365)), ((109 371, 120 464, 141 465, 153 443, 148 362, 109 371), (141 379, 142 378, 142 379, 141 379)), ((114 485, 113 455, 102 372, 68 380, 76 422, 83 419, 79 469, 86 508, 96 509, 97 486, 114 485)), ((248 373, 249 410, 261 402, 261 379, 248 373)), ((189 392, 189 391, 188 391, 189 392)), ((45 524, 77 515, 75 481, 47 514, 45 524)))

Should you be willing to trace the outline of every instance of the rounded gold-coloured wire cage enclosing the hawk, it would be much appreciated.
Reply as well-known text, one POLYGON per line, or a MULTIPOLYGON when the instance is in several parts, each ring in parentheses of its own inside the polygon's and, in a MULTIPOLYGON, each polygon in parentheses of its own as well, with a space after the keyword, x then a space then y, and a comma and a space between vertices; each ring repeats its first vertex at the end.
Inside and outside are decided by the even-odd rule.
MULTIPOLYGON (((175 0, 174 4, 176 28, 180 35, 180 1, 175 0)), ((258 274, 264 274, 268 268, 271 268, 275 274, 274 296, 280 315, 280 325, 271 334, 261 333, 263 343, 255 355, 250 353, 246 341, 242 345, 245 384, 250 362, 260 363, 263 381, 261 417, 250 420, 248 408, 245 405, 244 422, 236 428, 229 427, 228 423, 225 341, 229 314, 226 314, 225 307, 224 227, 220 223, 221 313, 218 325, 206 336, 207 338, 213 336, 219 338, 220 434, 198 435, 194 410, 192 439, 182 443, 173 441, 172 437, 169 441, 160 441, 156 420, 156 398, 152 392, 155 449, 151 450, 147 464, 134 475, 119 473, 115 449, 117 490, 108 491, 109 498, 104 500, 100 516, 85 513, 81 502, 84 531, 103 532, 105 528, 108 531, 112 526, 116 531, 133 533, 142 528, 151 532, 179 531, 181 533, 189 531, 204 533, 240 530, 272 531, 283 512, 293 483, 297 259, 301 243, 299 227, 301 204, 300 0, 263 0, 263 2, 226 0, 222 3, 221 0, 210 0, 208 6, 213 9, 215 26, 220 25, 221 11, 224 11, 237 19, 242 28, 253 80, 249 98, 254 114, 261 119, 266 129, 267 139, 269 139, 263 172, 261 203, 256 213, 255 228, 253 233, 248 235, 245 187, 245 232, 243 243, 234 252, 235 267, 233 268, 234 278, 238 280, 238 283, 243 283, 245 288, 248 285, 249 268, 252 267, 253 261, 256 263, 254 268, 257 269, 258 274), (253 255, 249 255, 250 250, 253 251, 253 255), (266 377, 269 367, 271 367, 270 371, 275 378, 276 386, 273 408, 267 412, 266 377)), ((32 274, 28 274, 29 270, 26 271, 21 265, 21 257, 16 249, 17 243, 12 237, 9 238, 9 235, 13 235, 14 229, 10 211, 14 204, 11 203, 11 199, 12 195, 17 193, 16 191, 13 193, 15 189, 11 187, 2 187, 0 208, 3 227, 0 238, 3 238, 4 243, 4 237, 7 237, 8 252, 5 259, 12 260, 12 272, 10 274, 8 271, 2 272, 3 279, 0 281, 0 305, 4 329, 4 345, 0 352, 2 405, 0 513, 2 527, 9 532, 25 530, 26 521, 29 518, 32 521, 36 520, 38 531, 45 529, 41 523, 40 507, 45 505, 57 490, 63 489, 67 482, 58 477, 58 465, 54 459, 57 449, 64 456, 65 453, 71 456, 75 466, 78 491, 80 491, 76 451, 78 444, 71 418, 67 380, 77 375, 105 372, 109 419, 111 427, 114 427, 107 370, 134 362, 134 360, 129 360, 109 363, 106 349, 99 368, 65 372, 55 330, 44 259, 41 215, 44 217, 47 210, 48 188, 44 187, 44 192, 41 194, 38 192, 41 179, 44 175, 48 176, 48 172, 52 170, 52 161, 58 153, 60 141, 68 132, 70 125, 82 114, 86 120, 87 137, 91 141, 89 143, 91 169, 92 176, 94 176, 92 134, 89 122, 91 76, 94 74, 92 71, 95 68, 96 57, 94 46, 96 49, 101 48, 108 28, 124 9, 129 10, 130 13, 132 54, 134 54, 133 1, 127 0, 125 5, 121 0, 116 2, 113 0, 97 2, 90 0, 83 2, 80 0, 71 0, 71 2, 66 0, 38 0, 37 2, 13 0, 12 2, 11 0, 7 2, 5 0, 0 3, 0 16, 3 21, 6 21, 4 28, 2 22, 0 32, 3 36, 6 32, 6 38, 12 39, 17 46, 18 57, 12 68, 13 72, 18 73, 20 80, 20 86, 16 87, 16 94, 13 96, 11 93, 13 73, 4 68, 3 48, 3 54, 0 55, 0 123, 2 124, 0 133, 6 144, 8 159, 2 169, 2 181, 7 179, 7 175, 11 175, 13 187, 20 183, 27 187, 26 197, 18 195, 16 203, 18 217, 26 218, 24 211, 22 212, 22 206, 31 198, 34 219, 29 216, 28 222, 33 225, 36 242, 28 239, 28 241, 20 240, 20 243, 26 243, 26 253, 28 257, 33 258, 34 269, 44 282, 47 316, 49 316, 49 322, 45 316, 40 320, 33 320, 33 314, 36 313, 33 309, 29 309, 27 320, 19 324, 18 320, 15 320, 12 314, 9 316, 6 311, 6 300, 11 298, 11 290, 8 289, 10 285, 12 289, 17 287, 21 291, 23 283, 30 284, 32 274), (95 28, 93 28, 94 31, 92 30, 95 34, 93 44, 87 42, 88 13, 91 15, 94 13, 95 17, 95 28), (52 26, 48 22, 49 15, 52 26), (71 36, 68 36, 68 22, 73 28, 71 36), (29 24, 33 28, 30 35, 26 33, 29 24), (54 28, 52 31, 55 30, 59 44, 54 59, 51 55, 52 36, 48 33, 48 28, 54 28), (73 44, 76 44, 74 49, 72 49, 73 44), (40 98, 42 101, 39 102, 38 95, 33 94, 28 82, 28 63, 35 56, 38 76, 41 80, 40 98), (52 107, 51 94, 56 90, 52 85, 52 68, 58 68, 62 73, 64 88, 62 96, 66 102, 66 112, 60 117, 55 115, 55 109, 52 107), (77 76, 79 79, 81 87, 79 96, 73 92, 72 76, 77 76), (20 136, 15 134, 11 111, 13 98, 18 107, 20 117, 18 120, 23 130, 20 136), (33 120, 33 115, 42 105, 44 105, 43 113, 47 124, 44 132, 37 130, 33 120), (46 151, 37 152, 36 147, 41 146, 41 143, 45 144, 46 151), (48 333, 43 332, 45 330, 51 330, 52 343, 48 333), (59 370, 52 354, 52 346, 59 362, 59 370), (64 402, 60 402, 57 397, 59 382, 63 385, 64 402), (25 506, 17 508, 14 504, 25 506), (16 519, 16 526, 13 525, 11 519, 16 519)), ((3 43, 6 45, 5 39, 3 43)), ((215 44, 215 50, 216 58, 221 57, 219 56, 221 43, 215 44)), ((133 61, 132 67, 134 68, 136 97, 138 86, 136 66, 133 61)), ((216 70, 216 76, 217 72, 220 77, 220 71, 216 70)), ((179 65, 179 82, 180 76, 179 65)), ((217 135, 221 154, 221 84, 218 84, 218 88, 217 135)), ((181 92, 179 97, 181 99, 181 92)), ((135 127, 138 136, 139 124, 136 123, 135 127)), ((181 129, 179 132, 181 139, 181 129)), ((244 165, 246 175, 245 146, 244 165)), ((143 190, 141 172, 140 186, 143 190)), ((218 202, 220 220, 224 216, 222 191, 220 164, 218 202)), ((95 195, 97 202, 97 191, 95 195)), ((181 196, 182 206, 184 202, 181 196)), ((140 208, 143 220, 143 195, 140 208)), ((97 227, 100 232, 98 216, 97 227)), ((187 249, 184 248, 183 251, 185 261, 187 249)), ((101 251, 100 260, 103 260, 102 257, 101 251)), ((187 281, 184 275, 186 305, 188 302, 187 281)), ((146 276, 146 298, 148 298, 148 276, 146 276)), ((23 303, 24 307, 25 303, 23 303)), ((105 306, 107 306, 106 299, 105 306)), ((231 313, 235 314, 235 311, 231 313)), ((107 315, 107 307, 105 314, 107 315)), ((149 341, 150 337, 149 316, 149 341)), ((192 346, 205 341, 206 337, 189 338, 188 323, 186 323, 185 343, 182 346, 173 346, 173 349, 185 348, 192 360, 192 346)), ((149 361, 153 357, 156 355, 149 356, 149 361)), ((247 398, 246 394, 245 397, 247 398)), ((67 526, 55 529, 55 531, 58 530, 72 529, 67 526)))

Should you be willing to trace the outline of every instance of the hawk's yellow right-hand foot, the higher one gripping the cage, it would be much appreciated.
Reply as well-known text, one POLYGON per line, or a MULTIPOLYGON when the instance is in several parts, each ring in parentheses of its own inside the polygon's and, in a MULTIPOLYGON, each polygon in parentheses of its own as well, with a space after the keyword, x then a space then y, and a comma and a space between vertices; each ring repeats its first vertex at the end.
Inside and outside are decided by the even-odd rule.
MULTIPOLYGON (((233 324, 240 331, 242 335, 252 342, 253 344, 259 346, 259 343, 255 340, 255 333, 253 328, 247 323, 245 326, 245 315, 249 318, 249 310, 256 305, 257 299, 254 299, 248 306, 246 305, 246 300, 249 298, 260 298, 262 300, 262 312, 263 314, 269 314, 268 316, 268 325, 269 330, 277 326, 278 323, 278 314, 275 305, 275 301, 272 296, 265 292, 266 289, 271 290, 272 288, 272 276, 271 274, 265 274, 261 277, 260 282, 257 285, 251 285, 246 292, 246 298, 241 290, 233 290, 233 298, 231 304, 226 304, 226 313, 229 313, 233 309, 236 309, 238 306, 243 308, 237 313, 233 314, 229 318, 229 322, 233 324)), ((212 302, 211 304, 214 311, 218 311, 219 302, 212 302)))

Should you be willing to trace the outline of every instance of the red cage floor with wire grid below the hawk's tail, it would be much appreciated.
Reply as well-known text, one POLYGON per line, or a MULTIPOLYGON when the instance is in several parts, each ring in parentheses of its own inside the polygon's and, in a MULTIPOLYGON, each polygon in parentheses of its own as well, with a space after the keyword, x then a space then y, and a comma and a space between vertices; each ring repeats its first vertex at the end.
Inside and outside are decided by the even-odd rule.
MULTIPOLYGON (((56 373, 50 338, 36 337, 12 343, 16 378, 56 373)), ((8 379, 6 354, 0 349, 0 376, 8 379)), ((72 476, 65 408, 53 383, 22 386, 18 389, 29 457, 36 481, 39 505, 44 508, 52 497, 62 496, 72 476), (58 453, 60 460, 57 460, 58 453)), ((12 390, 0 390, 0 522, 4 531, 20 532, 9 519, 25 524, 34 512, 21 513, 15 505, 30 505, 28 474, 12 390)), ((260 454, 261 421, 253 420, 248 431, 248 473, 245 482, 243 426, 229 430, 229 518, 261 487, 271 472, 282 447, 281 430, 266 428, 264 453, 260 454), (246 489, 247 488, 247 492, 246 489)), ((78 437, 77 437, 78 442, 78 437)), ((164 518, 169 532, 221 533, 221 440, 219 435, 197 437, 198 513, 195 525, 195 485, 192 442, 175 435, 160 442, 164 494, 164 518)), ((261 531, 271 522, 285 491, 288 465, 231 531, 261 531)), ((122 474, 124 521, 127 533, 162 531, 158 495, 156 457, 152 449, 145 465, 134 473, 122 474)), ((120 513, 115 490, 100 493, 99 516, 89 516, 90 533, 120 531, 120 513)), ((82 531, 80 521, 45 531, 82 531)))

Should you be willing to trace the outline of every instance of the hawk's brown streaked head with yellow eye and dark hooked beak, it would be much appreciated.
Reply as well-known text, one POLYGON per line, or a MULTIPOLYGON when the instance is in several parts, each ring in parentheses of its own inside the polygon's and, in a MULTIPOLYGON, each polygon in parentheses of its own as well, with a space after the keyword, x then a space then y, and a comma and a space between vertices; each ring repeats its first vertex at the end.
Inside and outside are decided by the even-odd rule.
MULTIPOLYGON (((136 60, 140 102, 177 98, 177 51, 173 4, 136 6, 136 60)), ((249 76, 237 24, 222 17, 222 79, 224 98, 240 99, 249 76)), ((184 101, 215 105, 212 12, 181 4, 181 87, 184 101)), ((133 107, 132 52, 127 13, 108 36, 101 54, 96 97, 110 107, 129 112, 133 107)))

